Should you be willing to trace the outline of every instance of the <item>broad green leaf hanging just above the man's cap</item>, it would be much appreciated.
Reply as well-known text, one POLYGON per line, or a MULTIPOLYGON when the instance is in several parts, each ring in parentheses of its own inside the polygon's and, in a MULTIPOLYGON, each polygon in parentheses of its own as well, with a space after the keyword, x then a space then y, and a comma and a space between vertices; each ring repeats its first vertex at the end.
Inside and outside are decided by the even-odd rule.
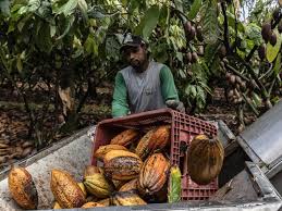
POLYGON ((158 24, 160 9, 158 5, 152 5, 143 16, 139 25, 136 27, 136 34, 142 35, 145 40, 148 40, 151 32, 158 24))

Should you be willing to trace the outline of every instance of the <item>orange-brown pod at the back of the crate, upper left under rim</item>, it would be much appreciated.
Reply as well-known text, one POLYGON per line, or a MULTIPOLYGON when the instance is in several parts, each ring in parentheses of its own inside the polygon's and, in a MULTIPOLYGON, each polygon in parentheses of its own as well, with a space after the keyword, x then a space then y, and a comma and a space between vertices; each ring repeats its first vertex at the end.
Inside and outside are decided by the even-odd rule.
POLYGON ((127 146, 130 145, 136 137, 138 136, 138 132, 136 129, 125 129, 119 135, 114 136, 111 139, 110 145, 121 145, 127 146))

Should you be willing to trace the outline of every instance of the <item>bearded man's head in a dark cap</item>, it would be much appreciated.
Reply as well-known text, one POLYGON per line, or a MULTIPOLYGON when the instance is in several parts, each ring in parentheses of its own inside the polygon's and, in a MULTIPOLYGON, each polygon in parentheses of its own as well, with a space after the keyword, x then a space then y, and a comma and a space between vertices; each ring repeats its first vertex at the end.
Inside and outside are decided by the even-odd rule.
POLYGON ((144 65, 148 61, 147 47, 139 36, 126 34, 122 42, 121 53, 136 71, 144 71, 144 65))

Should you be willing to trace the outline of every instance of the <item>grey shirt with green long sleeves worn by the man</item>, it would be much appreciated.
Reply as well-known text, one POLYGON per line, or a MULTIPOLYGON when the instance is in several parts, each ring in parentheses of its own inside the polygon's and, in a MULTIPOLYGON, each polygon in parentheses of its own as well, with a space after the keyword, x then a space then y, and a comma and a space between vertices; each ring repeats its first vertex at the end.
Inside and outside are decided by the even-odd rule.
POLYGON ((167 100, 179 101, 173 75, 168 66, 150 62, 143 73, 128 66, 115 76, 112 116, 165 108, 167 100))

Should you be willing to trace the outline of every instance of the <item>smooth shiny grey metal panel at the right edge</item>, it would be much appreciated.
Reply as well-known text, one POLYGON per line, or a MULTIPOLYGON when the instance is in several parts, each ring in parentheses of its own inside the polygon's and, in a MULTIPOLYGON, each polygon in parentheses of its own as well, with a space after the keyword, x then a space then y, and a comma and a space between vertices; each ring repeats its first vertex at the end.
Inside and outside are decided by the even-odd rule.
POLYGON ((241 137, 267 166, 280 161, 282 157, 282 101, 248 126, 241 137))

